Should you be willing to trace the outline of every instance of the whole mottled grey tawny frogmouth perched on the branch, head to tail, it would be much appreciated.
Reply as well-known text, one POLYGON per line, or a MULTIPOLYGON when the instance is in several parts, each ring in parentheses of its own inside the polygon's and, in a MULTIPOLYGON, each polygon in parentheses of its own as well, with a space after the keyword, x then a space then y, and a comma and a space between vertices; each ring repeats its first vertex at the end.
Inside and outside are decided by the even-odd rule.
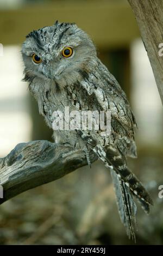
POLYGON ((24 78, 40 114, 53 128, 54 111, 110 111, 110 134, 102 129, 58 129, 54 141, 92 151, 110 170, 118 211, 127 234, 135 240, 136 198, 149 213, 153 201, 129 169, 128 157, 137 157, 135 116, 126 93, 98 58, 90 36, 76 23, 58 22, 30 32, 22 44, 24 78))

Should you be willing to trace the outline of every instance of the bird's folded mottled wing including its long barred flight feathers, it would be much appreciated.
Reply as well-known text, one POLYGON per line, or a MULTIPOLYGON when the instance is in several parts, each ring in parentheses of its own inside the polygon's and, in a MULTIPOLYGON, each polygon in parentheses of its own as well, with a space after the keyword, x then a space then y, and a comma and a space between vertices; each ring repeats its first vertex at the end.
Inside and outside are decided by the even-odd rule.
POLYGON ((85 130, 79 130, 78 133, 105 165, 114 169, 118 177, 140 201, 143 209, 149 212, 149 205, 153 204, 152 199, 126 164, 130 143, 134 141, 135 118, 120 85, 108 70, 105 73, 102 74, 100 70, 102 75, 99 76, 95 72, 94 76, 91 75, 87 81, 81 82, 81 85, 87 92, 87 99, 91 99, 92 111, 95 109, 111 111, 111 134, 108 138, 105 136, 104 145, 100 131, 92 130, 88 133, 85 130))

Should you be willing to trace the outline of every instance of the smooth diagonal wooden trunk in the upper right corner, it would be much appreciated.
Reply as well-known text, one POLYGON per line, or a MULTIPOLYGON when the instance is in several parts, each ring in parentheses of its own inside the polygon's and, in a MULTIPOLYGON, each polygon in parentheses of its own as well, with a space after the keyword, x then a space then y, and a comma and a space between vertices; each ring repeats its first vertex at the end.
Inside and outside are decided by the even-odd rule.
POLYGON ((159 45, 163 43, 163 1, 128 0, 128 2, 139 25, 163 104, 163 56, 159 56, 159 45))

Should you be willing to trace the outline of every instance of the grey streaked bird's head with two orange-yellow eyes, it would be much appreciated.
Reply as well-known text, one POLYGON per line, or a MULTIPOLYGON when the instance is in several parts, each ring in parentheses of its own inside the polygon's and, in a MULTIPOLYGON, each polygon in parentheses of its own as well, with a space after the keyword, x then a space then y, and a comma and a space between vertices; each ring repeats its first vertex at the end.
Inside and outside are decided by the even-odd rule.
POLYGON ((53 26, 30 32, 22 45, 26 80, 33 77, 73 82, 93 70, 96 47, 74 23, 55 22, 53 26))

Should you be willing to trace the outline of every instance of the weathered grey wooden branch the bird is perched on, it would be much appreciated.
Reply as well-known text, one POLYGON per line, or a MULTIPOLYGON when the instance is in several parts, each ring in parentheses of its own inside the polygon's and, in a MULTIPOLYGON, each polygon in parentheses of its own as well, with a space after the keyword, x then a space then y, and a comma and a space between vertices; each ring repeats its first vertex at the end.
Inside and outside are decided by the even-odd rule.
MULTIPOLYGON (((97 157, 91 153, 91 162, 97 157)), ((30 188, 54 180, 87 164, 81 150, 46 140, 18 144, 7 157, 0 158, 0 204, 30 188)))

